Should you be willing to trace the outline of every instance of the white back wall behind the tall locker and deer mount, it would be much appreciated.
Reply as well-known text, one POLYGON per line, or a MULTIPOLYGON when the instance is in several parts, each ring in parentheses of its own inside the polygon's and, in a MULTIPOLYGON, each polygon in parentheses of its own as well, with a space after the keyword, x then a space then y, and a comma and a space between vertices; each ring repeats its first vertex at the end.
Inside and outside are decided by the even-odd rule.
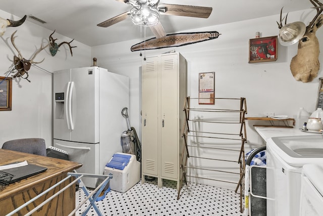
MULTIPOLYGON (((308 24, 313 17, 312 10, 299 11, 289 13, 288 22, 303 21, 308 24)), ((188 62, 188 96, 191 97, 198 97, 198 73, 215 71, 216 97, 245 97, 248 109, 246 116, 262 116, 265 112, 275 112, 294 117, 299 107, 313 112, 316 106, 318 77, 322 76, 322 73, 320 69, 318 76, 308 83, 294 79, 289 65, 297 53, 297 44, 290 47, 278 45, 278 60, 275 62, 248 63, 249 39, 255 37, 256 31, 261 32, 261 37, 277 35, 279 32, 277 20, 279 15, 192 29, 191 32, 216 30, 221 35, 217 39, 193 45, 149 50, 146 51, 146 56, 173 49, 180 52, 188 62)), ((322 38, 322 35, 323 30, 319 29, 317 37, 322 38)), ((130 77, 130 124, 137 129, 137 132, 141 127, 140 66, 143 57, 139 56, 139 52, 132 53, 130 47, 139 41, 140 39, 92 47, 92 57, 98 59, 98 65, 130 77)), ((323 41, 320 50, 323 50, 323 41)), ((322 55, 319 56, 319 61, 323 62, 322 55)), ((246 152, 262 145, 252 126, 255 123, 265 122, 247 122, 246 152)), ((217 131, 216 126, 213 131, 217 131)), ((204 183, 222 186, 219 182, 204 181, 204 183)))

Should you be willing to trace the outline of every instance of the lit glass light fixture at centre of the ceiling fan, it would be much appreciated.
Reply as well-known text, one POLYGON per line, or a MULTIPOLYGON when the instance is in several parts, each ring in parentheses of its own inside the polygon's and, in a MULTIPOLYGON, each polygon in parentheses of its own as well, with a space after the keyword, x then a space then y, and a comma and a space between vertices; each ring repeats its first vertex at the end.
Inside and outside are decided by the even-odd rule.
POLYGON ((131 21, 139 26, 153 26, 159 22, 159 12, 157 9, 143 5, 133 7, 130 10, 131 21))

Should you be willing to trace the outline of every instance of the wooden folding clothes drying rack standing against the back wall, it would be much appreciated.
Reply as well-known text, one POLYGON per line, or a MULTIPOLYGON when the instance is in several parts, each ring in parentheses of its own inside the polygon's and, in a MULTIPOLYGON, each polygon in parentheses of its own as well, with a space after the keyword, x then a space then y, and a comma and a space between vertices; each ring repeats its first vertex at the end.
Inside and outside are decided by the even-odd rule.
MULTIPOLYGON (((235 192, 237 193, 240 188, 240 211, 243 212, 244 144, 247 141, 245 125, 245 114, 247 114, 246 98, 211 98, 215 102, 214 105, 210 106, 211 108, 199 106, 195 101, 196 99, 200 98, 187 97, 183 108, 186 118, 183 127, 185 145, 182 149, 182 158, 180 160, 180 168, 182 169, 180 185, 182 185, 183 181, 187 185, 187 178, 236 184, 235 192), (209 131, 208 128, 216 129, 209 131), (218 157, 210 157, 211 152, 217 153, 218 157), (232 156, 223 158, 223 156, 219 155, 219 152, 232 155, 236 159, 232 158, 232 156), (196 164, 194 160, 203 160, 208 164, 207 166, 201 166, 196 164), (219 166, 219 162, 226 163, 228 166, 233 163, 233 167, 236 166, 234 163, 238 165, 234 168, 236 171, 229 171, 219 166), (203 171, 209 172, 209 175, 203 175, 203 171), (223 174, 228 178, 222 178, 223 174), (233 181, 232 179, 237 179, 238 181, 233 181)), ((180 191, 177 199, 180 198, 180 191)))

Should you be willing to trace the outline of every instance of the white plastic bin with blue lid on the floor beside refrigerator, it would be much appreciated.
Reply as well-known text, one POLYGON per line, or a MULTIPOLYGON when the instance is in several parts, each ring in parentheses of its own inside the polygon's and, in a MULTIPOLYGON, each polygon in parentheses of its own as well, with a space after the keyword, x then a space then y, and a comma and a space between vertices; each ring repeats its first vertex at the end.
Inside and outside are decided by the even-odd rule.
POLYGON ((136 155, 116 153, 105 165, 104 175, 113 174, 111 190, 124 193, 140 181, 140 162, 136 155))

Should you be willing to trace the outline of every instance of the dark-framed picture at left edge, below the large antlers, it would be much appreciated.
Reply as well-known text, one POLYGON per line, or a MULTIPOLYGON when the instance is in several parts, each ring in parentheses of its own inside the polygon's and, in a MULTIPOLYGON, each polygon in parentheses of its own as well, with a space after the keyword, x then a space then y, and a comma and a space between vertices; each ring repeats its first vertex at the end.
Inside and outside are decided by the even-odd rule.
POLYGON ((12 78, 0 76, 0 111, 11 110, 12 78))

